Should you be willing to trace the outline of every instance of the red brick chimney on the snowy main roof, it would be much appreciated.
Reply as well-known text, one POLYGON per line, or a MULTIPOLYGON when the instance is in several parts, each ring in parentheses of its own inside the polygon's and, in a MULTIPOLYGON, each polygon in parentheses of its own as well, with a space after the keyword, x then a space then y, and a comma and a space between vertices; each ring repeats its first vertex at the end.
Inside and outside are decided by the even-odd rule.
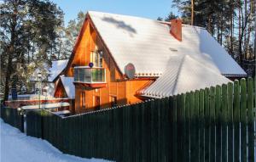
POLYGON ((170 33, 178 41, 182 41, 182 20, 171 20, 171 30, 170 33))

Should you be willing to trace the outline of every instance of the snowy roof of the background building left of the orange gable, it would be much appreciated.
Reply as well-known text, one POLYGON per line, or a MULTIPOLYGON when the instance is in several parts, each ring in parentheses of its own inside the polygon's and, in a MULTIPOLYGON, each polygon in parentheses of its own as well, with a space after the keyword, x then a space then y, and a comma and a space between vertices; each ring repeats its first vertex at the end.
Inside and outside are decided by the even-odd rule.
POLYGON ((54 81, 55 78, 61 74, 61 71, 66 68, 67 62, 68 59, 52 61, 48 81, 54 81))

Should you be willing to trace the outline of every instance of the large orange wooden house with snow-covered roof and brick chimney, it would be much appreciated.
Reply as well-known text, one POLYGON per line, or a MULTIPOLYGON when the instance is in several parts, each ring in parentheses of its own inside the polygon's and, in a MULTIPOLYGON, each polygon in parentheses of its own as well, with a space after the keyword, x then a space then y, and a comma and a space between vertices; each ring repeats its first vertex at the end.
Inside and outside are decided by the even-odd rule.
MULTIPOLYGON (((63 74, 73 77, 76 113, 172 96, 247 75, 201 27, 94 11, 86 14, 63 74)), ((58 83, 57 89, 64 87, 63 81, 58 83)))

